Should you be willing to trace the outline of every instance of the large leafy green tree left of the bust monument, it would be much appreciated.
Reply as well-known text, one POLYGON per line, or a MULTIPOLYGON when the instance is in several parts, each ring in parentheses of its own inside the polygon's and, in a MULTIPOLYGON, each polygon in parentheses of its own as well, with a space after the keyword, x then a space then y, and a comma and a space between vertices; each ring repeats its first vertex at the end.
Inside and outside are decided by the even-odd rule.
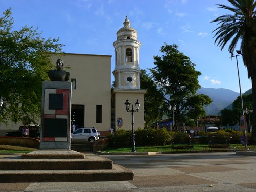
POLYGON ((0 17, 0 123, 35 122, 40 117, 42 81, 53 68, 50 53, 62 53, 59 39, 45 39, 37 29, 13 30, 11 9, 0 17))

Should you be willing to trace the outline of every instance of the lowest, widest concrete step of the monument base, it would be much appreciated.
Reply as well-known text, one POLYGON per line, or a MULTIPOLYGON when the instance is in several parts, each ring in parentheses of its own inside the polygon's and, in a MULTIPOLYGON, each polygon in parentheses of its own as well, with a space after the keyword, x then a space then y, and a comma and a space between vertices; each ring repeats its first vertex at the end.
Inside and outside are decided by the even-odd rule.
POLYGON ((131 170, 117 164, 105 170, 0 170, 1 183, 127 181, 133 176, 131 170))

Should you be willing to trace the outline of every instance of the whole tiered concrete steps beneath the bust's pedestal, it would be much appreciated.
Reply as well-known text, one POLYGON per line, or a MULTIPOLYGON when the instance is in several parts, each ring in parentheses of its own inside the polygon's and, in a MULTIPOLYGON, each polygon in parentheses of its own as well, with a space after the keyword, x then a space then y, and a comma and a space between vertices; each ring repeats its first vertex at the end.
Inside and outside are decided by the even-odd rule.
POLYGON ((73 150, 38 150, 0 159, 0 183, 126 181, 133 177, 131 170, 110 159, 73 150))

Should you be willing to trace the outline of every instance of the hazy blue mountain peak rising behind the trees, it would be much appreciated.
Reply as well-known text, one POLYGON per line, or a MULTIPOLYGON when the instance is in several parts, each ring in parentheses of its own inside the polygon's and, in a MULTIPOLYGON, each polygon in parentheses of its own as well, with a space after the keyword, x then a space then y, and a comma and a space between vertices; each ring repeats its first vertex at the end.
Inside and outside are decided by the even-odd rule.
POLYGON ((229 89, 224 88, 200 88, 198 94, 208 95, 212 99, 211 105, 205 107, 206 115, 218 115, 220 111, 230 104, 240 95, 229 89))

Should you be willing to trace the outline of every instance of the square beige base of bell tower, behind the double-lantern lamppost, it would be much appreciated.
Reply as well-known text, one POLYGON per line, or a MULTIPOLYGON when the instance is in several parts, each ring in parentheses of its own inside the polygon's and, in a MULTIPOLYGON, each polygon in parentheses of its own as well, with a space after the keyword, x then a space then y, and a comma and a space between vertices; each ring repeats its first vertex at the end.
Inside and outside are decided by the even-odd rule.
POLYGON ((140 102, 140 109, 138 112, 134 112, 134 127, 135 130, 141 127, 144 129, 144 94, 145 90, 114 90, 113 95, 115 98, 115 124, 116 130, 117 126, 117 118, 123 119, 122 129, 131 130, 132 129, 132 114, 131 112, 127 112, 125 108, 125 102, 128 99, 131 103, 130 110, 132 109, 132 105, 135 110, 135 102, 137 99, 140 102))

